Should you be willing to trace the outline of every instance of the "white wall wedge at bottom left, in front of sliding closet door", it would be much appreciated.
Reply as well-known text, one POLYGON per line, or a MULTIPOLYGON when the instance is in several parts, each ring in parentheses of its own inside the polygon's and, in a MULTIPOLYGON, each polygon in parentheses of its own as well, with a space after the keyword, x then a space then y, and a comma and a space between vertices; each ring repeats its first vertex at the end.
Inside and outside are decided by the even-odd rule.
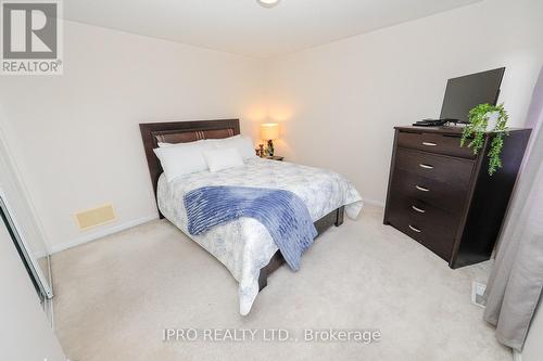
POLYGON ((0 220, 0 360, 66 360, 0 220))

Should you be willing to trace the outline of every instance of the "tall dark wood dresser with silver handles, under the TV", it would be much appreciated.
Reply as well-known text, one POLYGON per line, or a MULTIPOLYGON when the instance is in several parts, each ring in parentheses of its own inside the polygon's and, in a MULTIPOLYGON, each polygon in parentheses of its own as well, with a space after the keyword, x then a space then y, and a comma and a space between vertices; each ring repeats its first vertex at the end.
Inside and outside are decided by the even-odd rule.
POLYGON ((503 168, 489 176, 494 133, 476 156, 460 147, 462 128, 395 127, 384 224, 407 234, 451 268, 490 258, 530 129, 510 129, 503 168))

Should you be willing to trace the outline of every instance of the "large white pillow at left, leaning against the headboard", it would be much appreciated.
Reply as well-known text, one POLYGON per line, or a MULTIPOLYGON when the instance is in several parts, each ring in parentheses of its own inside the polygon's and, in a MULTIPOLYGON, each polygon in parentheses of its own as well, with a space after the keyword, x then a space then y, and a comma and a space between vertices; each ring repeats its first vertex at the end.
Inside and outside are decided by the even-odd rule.
POLYGON ((203 152, 210 144, 203 141, 178 143, 154 149, 168 182, 182 175, 207 169, 203 152))

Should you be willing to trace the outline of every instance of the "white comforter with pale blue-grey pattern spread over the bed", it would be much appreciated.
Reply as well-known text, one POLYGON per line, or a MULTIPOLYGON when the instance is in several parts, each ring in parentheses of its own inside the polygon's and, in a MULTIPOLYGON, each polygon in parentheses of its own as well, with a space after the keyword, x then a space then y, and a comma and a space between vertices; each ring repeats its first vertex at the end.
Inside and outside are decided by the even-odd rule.
POLYGON ((240 218, 217 225, 204 235, 192 236, 187 230, 184 195, 206 185, 238 185, 281 189, 300 196, 313 221, 346 205, 350 218, 362 209, 362 198, 340 175, 287 162, 249 159, 244 167, 218 172, 201 171, 167 182, 159 180, 159 208, 171 222, 223 262, 239 283, 240 313, 248 314, 258 294, 258 274, 277 252, 264 225, 251 218, 240 218))

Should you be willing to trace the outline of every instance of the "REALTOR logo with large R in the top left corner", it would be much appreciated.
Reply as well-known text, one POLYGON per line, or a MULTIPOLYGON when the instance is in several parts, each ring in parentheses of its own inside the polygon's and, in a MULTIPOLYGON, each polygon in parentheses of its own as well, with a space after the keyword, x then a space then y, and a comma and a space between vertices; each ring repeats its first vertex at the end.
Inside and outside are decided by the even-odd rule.
POLYGON ((60 1, 1 1, 2 75, 61 75, 60 1))

